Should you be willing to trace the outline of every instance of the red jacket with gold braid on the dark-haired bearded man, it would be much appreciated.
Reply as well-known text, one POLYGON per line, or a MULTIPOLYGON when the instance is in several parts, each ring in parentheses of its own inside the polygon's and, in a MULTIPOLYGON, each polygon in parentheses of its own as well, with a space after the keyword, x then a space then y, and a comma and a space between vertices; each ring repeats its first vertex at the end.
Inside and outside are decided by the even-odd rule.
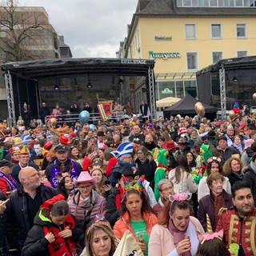
POLYGON ((224 242, 226 246, 230 243, 238 243, 242 245, 246 256, 256 255, 256 207, 250 214, 245 217, 242 222, 238 217, 237 211, 234 209, 222 212, 216 231, 224 231, 224 242))

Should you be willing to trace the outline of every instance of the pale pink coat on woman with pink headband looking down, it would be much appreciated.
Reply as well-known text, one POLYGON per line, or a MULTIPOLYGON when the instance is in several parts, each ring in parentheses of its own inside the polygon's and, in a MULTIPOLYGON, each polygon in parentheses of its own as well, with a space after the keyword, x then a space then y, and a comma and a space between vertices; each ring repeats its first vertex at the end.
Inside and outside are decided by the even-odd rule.
MULTIPOLYGON (((190 216, 189 226, 186 235, 190 237, 191 247, 195 255, 198 249, 198 234, 205 234, 202 225, 197 218, 190 216)), ((149 256, 178 256, 174 247, 174 237, 170 234, 168 228, 164 225, 155 225, 149 242, 149 256)))

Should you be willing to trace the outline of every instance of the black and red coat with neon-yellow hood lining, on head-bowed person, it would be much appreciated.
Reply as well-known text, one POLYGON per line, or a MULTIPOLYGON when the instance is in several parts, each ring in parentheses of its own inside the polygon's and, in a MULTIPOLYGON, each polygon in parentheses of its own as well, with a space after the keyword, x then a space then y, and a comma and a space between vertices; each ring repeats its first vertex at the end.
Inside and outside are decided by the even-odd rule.
POLYGON ((78 241, 82 232, 81 229, 76 228, 74 218, 72 218, 70 214, 67 215, 66 221, 61 226, 57 226, 51 222, 49 218, 46 218, 39 213, 34 218, 34 226, 27 235, 26 242, 22 248, 22 256, 54 256, 54 253, 50 254, 50 250, 54 249, 62 250, 65 252, 66 256, 75 255, 71 254, 70 251, 71 248, 74 247, 74 242, 78 241), (55 232, 56 230, 58 232, 65 230, 67 227, 72 231, 72 236, 70 238, 59 238, 57 236, 52 243, 45 238, 46 230, 54 229, 55 232), (46 230, 44 230, 45 228, 46 230))

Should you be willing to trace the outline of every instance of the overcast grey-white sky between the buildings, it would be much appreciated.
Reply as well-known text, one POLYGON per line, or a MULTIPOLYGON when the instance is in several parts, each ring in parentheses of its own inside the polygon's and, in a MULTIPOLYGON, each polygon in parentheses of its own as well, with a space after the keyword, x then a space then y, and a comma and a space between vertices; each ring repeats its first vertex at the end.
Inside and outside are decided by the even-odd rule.
POLYGON ((43 6, 74 58, 115 58, 126 37, 138 0, 19 0, 20 6, 43 6))

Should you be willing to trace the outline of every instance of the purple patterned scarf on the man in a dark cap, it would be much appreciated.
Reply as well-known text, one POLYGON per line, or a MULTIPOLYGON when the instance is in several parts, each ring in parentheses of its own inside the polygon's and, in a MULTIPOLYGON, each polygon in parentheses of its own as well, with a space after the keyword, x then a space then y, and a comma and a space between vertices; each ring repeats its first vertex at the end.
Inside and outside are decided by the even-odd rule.
POLYGON ((63 162, 59 165, 58 159, 54 160, 53 166, 50 171, 50 184, 55 189, 58 185, 58 178, 62 177, 62 173, 68 172, 70 174, 70 178, 78 178, 79 171, 76 162, 67 158, 66 162, 63 162), (66 163, 68 165, 66 165, 66 163), (68 167, 67 170, 66 167, 68 167))

